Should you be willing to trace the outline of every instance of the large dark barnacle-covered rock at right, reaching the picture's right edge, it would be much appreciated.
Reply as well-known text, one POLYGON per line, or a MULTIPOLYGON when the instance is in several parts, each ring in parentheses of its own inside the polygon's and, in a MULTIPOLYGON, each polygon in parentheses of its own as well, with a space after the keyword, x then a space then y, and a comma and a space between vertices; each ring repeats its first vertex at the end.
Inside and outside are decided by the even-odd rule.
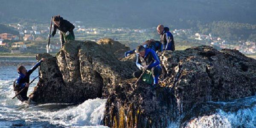
POLYGON ((167 74, 163 83, 175 89, 180 112, 195 103, 237 99, 256 92, 256 60, 237 50, 201 46, 166 51, 160 58, 167 74))

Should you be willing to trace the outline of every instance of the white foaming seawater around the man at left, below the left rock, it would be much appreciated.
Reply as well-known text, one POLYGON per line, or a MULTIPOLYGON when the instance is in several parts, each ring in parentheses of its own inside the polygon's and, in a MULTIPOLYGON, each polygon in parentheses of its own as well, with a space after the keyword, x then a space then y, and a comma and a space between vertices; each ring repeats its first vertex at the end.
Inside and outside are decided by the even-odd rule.
MULTIPOLYGON (((0 126, 9 127, 97 127, 102 126, 106 99, 88 99, 80 105, 51 103, 33 105, 20 102, 13 91, 16 67, 0 67, 0 126), (10 68, 12 70, 10 70, 10 68), (11 72, 4 72, 10 70, 11 72), (6 77, 4 75, 7 75, 6 77), (11 77, 10 77, 11 76, 11 77)), ((31 78, 37 76, 32 74, 31 78)), ((32 93, 38 79, 29 87, 32 93)))

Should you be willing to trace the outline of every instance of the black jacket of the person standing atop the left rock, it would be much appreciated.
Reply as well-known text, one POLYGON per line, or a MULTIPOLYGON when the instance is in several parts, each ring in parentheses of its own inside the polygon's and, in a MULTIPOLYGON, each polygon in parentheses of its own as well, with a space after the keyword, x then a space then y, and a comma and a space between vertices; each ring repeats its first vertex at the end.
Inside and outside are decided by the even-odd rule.
POLYGON ((69 21, 67 20, 64 20, 62 17, 60 17, 60 24, 57 26, 54 24, 54 29, 53 29, 53 32, 52 32, 52 36, 54 36, 56 34, 56 30, 60 30, 61 32, 63 33, 66 33, 67 31, 69 32, 73 32, 73 29, 75 28, 75 26, 70 23, 69 21))

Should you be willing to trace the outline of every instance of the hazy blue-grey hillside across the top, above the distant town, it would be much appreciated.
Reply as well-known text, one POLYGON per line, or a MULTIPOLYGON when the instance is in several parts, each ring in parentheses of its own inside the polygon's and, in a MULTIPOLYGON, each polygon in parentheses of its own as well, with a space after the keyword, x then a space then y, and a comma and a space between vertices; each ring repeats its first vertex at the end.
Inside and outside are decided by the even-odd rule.
POLYGON ((256 0, 1 0, 0 22, 51 15, 81 20, 87 26, 151 27, 159 23, 185 28, 197 21, 256 23, 256 0))

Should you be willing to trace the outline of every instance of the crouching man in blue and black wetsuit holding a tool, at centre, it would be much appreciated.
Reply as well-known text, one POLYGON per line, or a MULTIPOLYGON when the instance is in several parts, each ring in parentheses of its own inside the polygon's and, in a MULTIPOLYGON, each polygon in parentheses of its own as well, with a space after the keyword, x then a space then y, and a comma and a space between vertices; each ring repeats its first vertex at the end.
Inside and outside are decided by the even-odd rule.
POLYGON ((156 87, 158 84, 158 76, 161 73, 160 60, 157 57, 157 53, 150 48, 145 48, 142 45, 139 45, 136 49, 137 51, 137 61, 136 65, 139 70, 133 73, 133 76, 139 78, 143 73, 143 70, 147 69, 152 72, 154 84, 153 87, 156 87), (148 65, 153 61, 150 65, 148 65))

